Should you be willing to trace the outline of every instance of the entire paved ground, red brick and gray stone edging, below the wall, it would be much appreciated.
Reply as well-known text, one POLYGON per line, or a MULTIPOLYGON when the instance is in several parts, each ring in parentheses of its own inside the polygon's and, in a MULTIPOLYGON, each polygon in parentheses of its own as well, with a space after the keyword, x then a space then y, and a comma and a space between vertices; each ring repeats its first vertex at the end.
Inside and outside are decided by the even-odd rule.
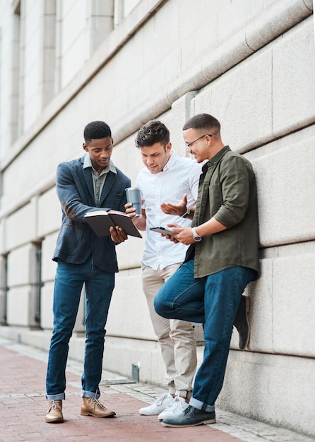
POLYGON ((67 366, 64 424, 46 424, 45 376, 47 353, 0 338, 0 441, 49 442, 314 442, 292 431, 275 428, 236 414, 216 411, 217 424, 171 429, 155 416, 141 416, 138 409, 151 403, 162 388, 131 383, 104 372, 101 400, 117 417, 100 419, 80 415, 82 364, 67 366))

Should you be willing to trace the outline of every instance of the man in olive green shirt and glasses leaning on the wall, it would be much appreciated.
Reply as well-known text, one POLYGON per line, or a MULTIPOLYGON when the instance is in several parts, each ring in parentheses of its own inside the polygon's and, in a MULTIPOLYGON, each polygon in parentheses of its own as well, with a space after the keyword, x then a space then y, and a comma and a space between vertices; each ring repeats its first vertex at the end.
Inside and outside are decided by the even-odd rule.
POLYGON ((163 426, 215 423, 233 321, 249 282, 258 277, 258 210, 251 164, 222 143, 220 123, 198 114, 183 128, 189 152, 203 165, 191 227, 169 225, 171 241, 189 245, 182 266, 155 297, 165 318, 204 324, 205 350, 189 407, 163 426))

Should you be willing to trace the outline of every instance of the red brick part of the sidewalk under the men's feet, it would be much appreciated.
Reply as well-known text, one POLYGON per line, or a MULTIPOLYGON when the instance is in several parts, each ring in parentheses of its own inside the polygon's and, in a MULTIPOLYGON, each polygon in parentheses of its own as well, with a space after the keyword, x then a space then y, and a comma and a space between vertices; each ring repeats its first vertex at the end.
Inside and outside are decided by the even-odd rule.
POLYGON ((81 377, 67 371, 63 424, 44 422, 46 363, 0 345, 0 441, 237 441, 210 426, 171 429, 157 416, 141 416, 145 402, 112 387, 101 386, 101 400, 117 417, 100 419, 80 414, 81 377))

